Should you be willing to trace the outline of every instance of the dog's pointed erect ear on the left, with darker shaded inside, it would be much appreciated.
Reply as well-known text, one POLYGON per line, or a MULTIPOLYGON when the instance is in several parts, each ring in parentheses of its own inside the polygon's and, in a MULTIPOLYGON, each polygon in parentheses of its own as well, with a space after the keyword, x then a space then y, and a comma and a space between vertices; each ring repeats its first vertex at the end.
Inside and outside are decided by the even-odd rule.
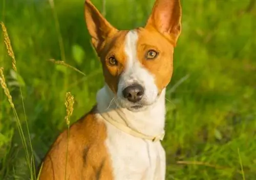
POLYGON ((92 37, 92 43, 97 53, 104 40, 117 30, 100 14, 96 7, 86 0, 84 4, 84 17, 88 31, 92 37))

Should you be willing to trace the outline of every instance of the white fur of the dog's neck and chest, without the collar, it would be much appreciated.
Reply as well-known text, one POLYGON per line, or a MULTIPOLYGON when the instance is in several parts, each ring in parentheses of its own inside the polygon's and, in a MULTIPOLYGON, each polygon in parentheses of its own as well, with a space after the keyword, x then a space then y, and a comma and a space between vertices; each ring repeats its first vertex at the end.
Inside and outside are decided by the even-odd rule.
MULTIPOLYGON (((111 96, 108 87, 102 88, 97 94, 97 109, 100 113, 116 108, 110 105, 111 96)), ((127 121, 135 130, 154 136, 164 129, 165 90, 157 102, 143 112, 122 110, 127 121)), ((99 115, 99 118, 102 118, 99 115)), ((103 119, 102 119, 103 120, 103 119)), ((108 121, 103 120, 107 127, 105 145, 112 160, 115 180, 163 180, 165 179, 165 151, 160 141, 152 142, 122 132, 108 121)))

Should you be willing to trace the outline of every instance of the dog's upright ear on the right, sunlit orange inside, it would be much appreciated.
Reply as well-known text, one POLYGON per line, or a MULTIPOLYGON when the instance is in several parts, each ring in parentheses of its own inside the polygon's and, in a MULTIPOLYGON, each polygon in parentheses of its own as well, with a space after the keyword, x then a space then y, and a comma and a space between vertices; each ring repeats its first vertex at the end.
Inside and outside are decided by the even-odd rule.
POLYGON ((176 45, 181 32, 180 0, 156 0, 145 28, 154 28, 176 45))

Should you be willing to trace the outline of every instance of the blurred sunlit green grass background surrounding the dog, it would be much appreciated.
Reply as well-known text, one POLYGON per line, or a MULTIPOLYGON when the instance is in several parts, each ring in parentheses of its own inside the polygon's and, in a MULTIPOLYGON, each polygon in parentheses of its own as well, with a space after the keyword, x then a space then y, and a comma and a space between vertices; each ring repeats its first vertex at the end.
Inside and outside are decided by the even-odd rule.
MULTIPOLYGON (((118 29, 143 26, 154 3, 92 2, 118 29)), ((103 85, 83 3, 0 0, 0 20, 8 30, 18 74, 2 33, 0 67, 28 139, 22 87, 36 166, 67 127, 66 92, 75 98, 74 122, 92 108, 103 85), (86 76, 49 59, 63 60, 86 76)), ((255 1, 181 3, 183 28, 166 94, 166 179, 256 179, 255 1)), ((0 89, 0 179, 28 179, 15 116, 0 89)))

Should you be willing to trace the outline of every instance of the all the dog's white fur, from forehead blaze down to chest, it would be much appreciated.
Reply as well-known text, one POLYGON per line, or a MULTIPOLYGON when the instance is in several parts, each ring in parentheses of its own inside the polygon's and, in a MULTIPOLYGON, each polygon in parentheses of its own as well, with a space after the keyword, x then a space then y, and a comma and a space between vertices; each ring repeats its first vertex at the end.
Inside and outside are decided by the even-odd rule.
MULTIPOLYGON (((125 113, 129 126, 137 131, 155 136, 161 134, 165 123, 165 89, 157 96, 154 76, 140 65, 136 58, 137 33, 130 31, 126 36, 125 52, 127 54, 127 68, 123 72, 118 88, 124 88, 134 82, 145 88, 144 102, 147 108, 133 112, 119 107, 112 102, 115 94, 105 85, 97 93, 97 109, 99 112, 121 108, 125 113)), ((120 91, 118 90, 118 93, 120 91)), ((126 104, 124 99, 122 103, 126 104)), ((100 115, 98 115, 99 118, 100 115)), ((109 150, 113 175, 115 180, 164 180, 165 179, 165 151, 161 142, 152 142, 126 134, 104 121, 108 137, 105 141, 109 150)))

